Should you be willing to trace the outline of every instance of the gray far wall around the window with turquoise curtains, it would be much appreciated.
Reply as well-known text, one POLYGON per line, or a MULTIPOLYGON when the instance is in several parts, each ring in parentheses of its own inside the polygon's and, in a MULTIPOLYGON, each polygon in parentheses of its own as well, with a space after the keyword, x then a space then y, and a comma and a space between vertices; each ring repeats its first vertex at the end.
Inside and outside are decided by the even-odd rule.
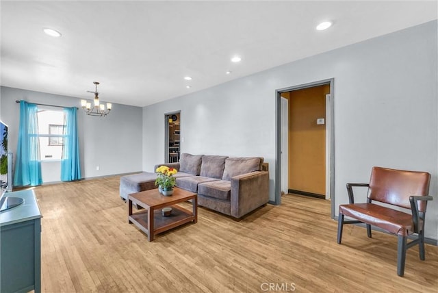
MULTIPOLYGON (((16 153, 20 105, 15 100, 31 103, 79 107, 77 121, 82 177, 99 177, 142 170, 142 108, 113 104, 104 118, 88 116, 75 97, 1 87, 0 116, 9 126, 9 151, 16 153), (100 166, 100 170, 96 170, 100 166)), ((60 181, 60 162, 43 162, 44 183, 60 181)))

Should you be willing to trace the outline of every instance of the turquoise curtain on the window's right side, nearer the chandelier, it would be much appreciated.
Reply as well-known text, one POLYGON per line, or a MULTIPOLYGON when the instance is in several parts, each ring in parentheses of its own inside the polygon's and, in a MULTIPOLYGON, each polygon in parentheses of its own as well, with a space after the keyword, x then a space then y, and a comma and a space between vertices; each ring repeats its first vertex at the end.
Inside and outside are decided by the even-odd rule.
POLYGON ((64 108, 64 147, 61 159, 61 180, 81 179, 79 139, 77 137, 76 107, 64 108))

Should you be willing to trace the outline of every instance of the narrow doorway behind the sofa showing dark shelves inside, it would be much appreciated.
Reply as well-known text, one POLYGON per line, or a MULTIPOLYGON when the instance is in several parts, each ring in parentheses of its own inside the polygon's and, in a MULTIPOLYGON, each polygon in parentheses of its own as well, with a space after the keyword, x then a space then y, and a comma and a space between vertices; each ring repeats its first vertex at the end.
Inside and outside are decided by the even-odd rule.
POLYGON ((167 113, 164 118, 166 120, 164 162, 176 163, 179 162, 181 151, 181 112, 167 113))

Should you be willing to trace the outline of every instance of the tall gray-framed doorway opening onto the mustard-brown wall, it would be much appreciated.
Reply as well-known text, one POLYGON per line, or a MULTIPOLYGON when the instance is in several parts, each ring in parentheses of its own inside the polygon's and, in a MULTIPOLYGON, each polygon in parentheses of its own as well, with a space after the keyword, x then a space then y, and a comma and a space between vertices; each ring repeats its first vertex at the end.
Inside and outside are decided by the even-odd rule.
POLYGON ((333 129, 333 79, 276 90, 276 204, 285 186, 333 199, 333 129))

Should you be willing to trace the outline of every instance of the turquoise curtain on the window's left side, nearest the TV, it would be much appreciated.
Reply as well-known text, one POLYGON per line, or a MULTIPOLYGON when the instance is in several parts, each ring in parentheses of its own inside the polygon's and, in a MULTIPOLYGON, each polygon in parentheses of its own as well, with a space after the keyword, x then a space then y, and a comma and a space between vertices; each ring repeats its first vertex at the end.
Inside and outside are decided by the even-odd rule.
POLYGON ((35 104, 20 101, 14 186, 38 186, 42 183, 37 113, 35 104))

